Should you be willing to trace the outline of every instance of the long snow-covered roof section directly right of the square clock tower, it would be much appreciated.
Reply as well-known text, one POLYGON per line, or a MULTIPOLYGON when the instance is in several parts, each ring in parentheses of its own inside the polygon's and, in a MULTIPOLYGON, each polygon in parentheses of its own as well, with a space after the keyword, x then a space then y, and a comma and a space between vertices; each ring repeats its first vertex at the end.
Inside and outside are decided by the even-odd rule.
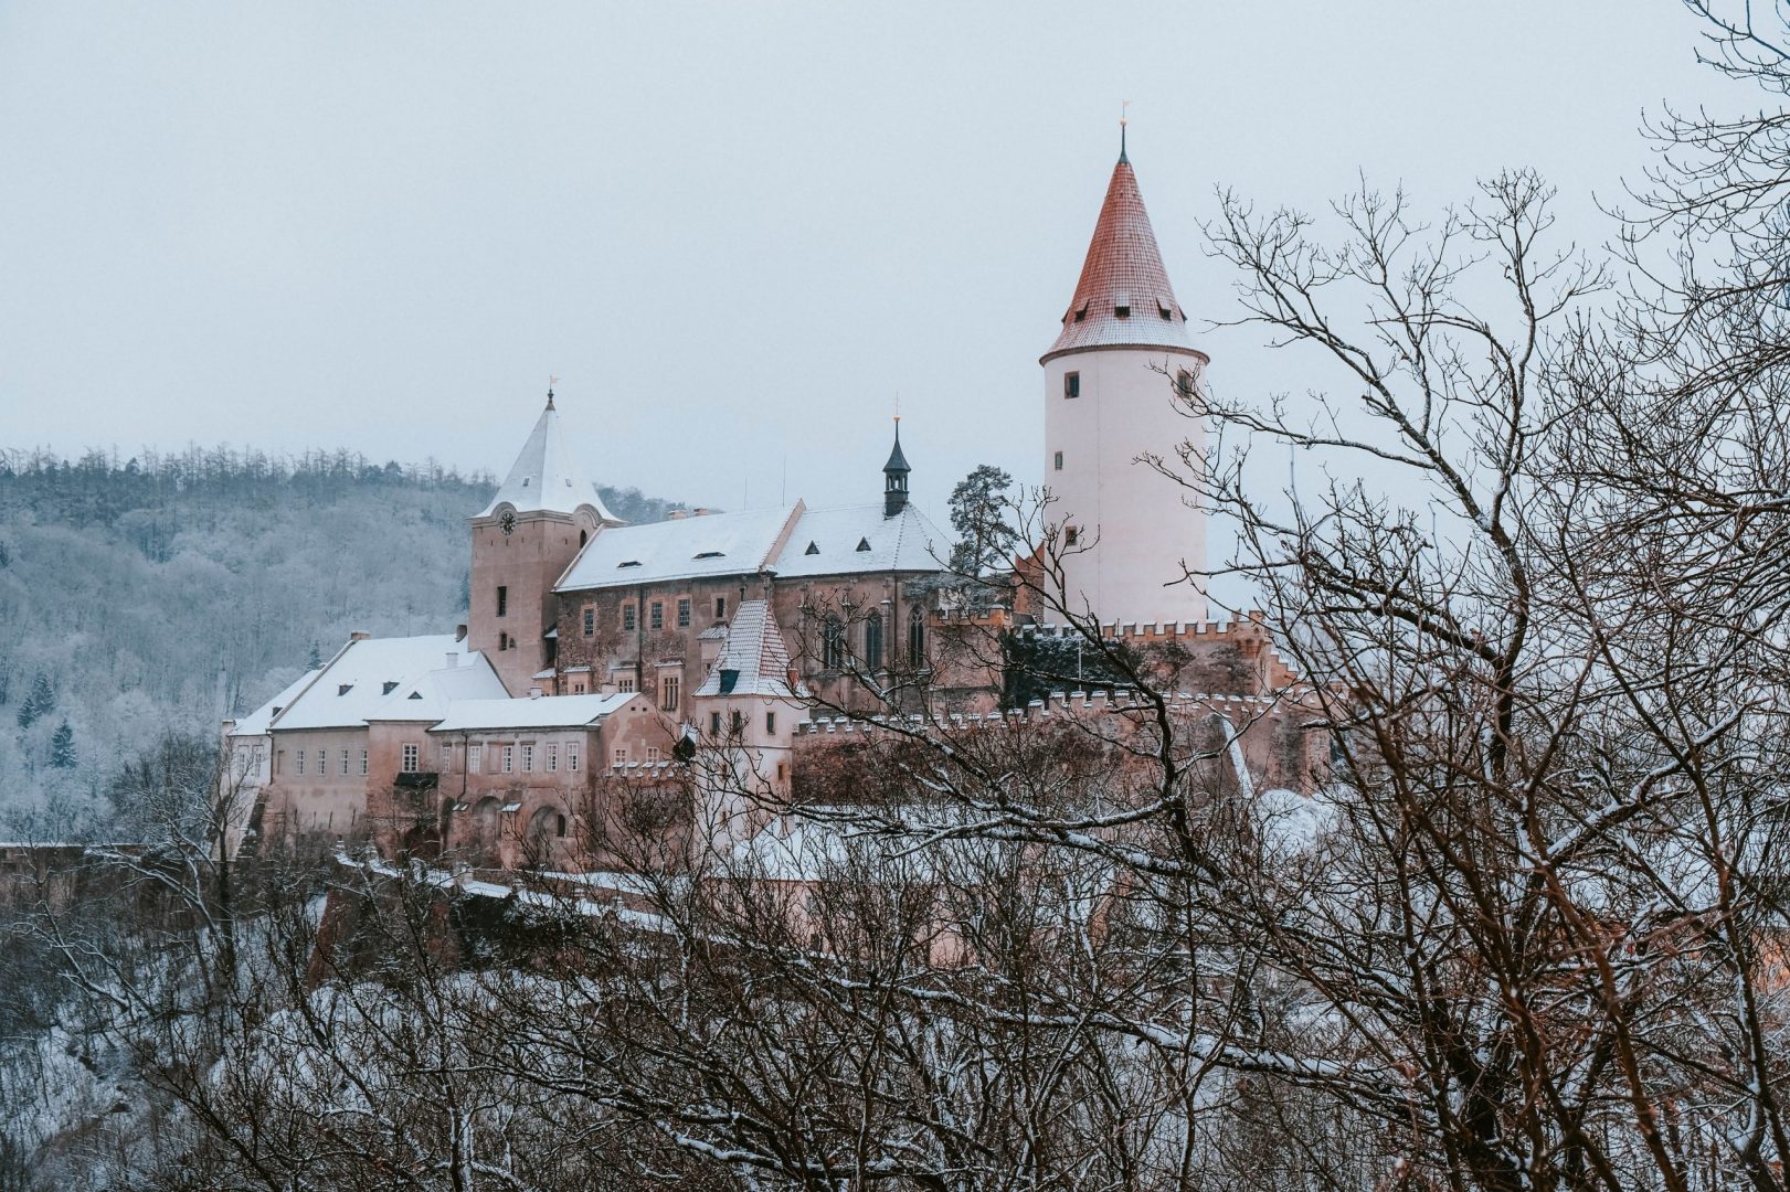
POLYGON ((771 562, 779 539, 802 510, 802 503, 797 501, 775 508, 703 514, 603 530, 578 553, 555 591, 578 592, 711 575, 752 575, 771 562))

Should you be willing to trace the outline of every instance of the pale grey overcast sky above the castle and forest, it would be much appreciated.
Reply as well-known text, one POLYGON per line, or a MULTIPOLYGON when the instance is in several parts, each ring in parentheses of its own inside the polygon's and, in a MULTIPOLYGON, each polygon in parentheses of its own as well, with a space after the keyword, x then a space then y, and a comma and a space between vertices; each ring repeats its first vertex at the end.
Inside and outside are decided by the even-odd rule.
MULTIPOLYGON (((1661 100, 1752 102, 1674 0, 0 4, 0 446, 351 446, 501 473, 560 381, 691 503, 1042 480, 1038 356, 1117 152, 1196 326, 1214 188, 1527 165, 1584 242, 1661 100), (784 474, 788 480, 784 481, 784 474)), ((1228 394, 1307 388, 1201 336, 1228 394)))

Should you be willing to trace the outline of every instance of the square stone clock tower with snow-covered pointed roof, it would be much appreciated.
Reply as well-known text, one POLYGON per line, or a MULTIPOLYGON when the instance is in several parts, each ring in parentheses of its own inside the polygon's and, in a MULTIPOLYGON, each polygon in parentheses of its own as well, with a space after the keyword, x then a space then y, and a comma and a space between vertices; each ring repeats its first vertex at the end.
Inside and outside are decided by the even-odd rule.
POLYGON ((467 646, 490 659, 512 696, 544 685, 535 675, 553 666, 553 583, 591 537, 619 524, 575 462, 550 388, 498 496, 473 517, 467 646))

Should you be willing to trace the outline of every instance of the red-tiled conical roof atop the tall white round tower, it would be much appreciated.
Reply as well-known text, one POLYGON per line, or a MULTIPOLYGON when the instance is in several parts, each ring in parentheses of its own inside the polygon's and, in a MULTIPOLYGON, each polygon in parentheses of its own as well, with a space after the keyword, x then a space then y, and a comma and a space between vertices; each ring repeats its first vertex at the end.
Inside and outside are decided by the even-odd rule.
POLYGON ((1194 347, 1187 313, 1174 301, 1174 286, 1162 267, 1137 174, 1124 154, 1106 186, 1076 297, 1063 313, 1063 333, 1044 360, 1079 347, 1113 345, 1194 347))

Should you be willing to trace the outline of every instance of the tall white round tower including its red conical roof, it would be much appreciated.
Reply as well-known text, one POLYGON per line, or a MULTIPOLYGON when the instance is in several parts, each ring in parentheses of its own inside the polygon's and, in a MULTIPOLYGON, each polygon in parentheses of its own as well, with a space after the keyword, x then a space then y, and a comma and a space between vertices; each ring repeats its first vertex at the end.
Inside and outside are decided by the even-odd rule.
POLYGON ((1140 456, 1176 460, 1205 431, 1178 397, 1198 394, 1192 345, 1124 150, 1094 226, 1063 333, 1044 365, 1044 483, 1063 526, 1063 600, 1103 623, 1205 621, 1185 569, 1206 562, 1205 512, 1140 456))

